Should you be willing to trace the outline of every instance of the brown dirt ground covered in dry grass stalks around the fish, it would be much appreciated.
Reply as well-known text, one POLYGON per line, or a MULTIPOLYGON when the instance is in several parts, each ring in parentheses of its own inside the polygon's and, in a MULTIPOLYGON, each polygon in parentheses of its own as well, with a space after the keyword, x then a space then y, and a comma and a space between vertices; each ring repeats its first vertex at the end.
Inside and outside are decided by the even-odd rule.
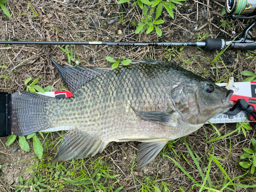
MULTIPOLYGON (((69 0, 37 0, 27 1, 8 1, 5 6, 11 12, 11 18, 7 17, 0 9, 0 40, 19 40, 19 41, 123 41, 123 42, 154 42, 154 41, 197 41, 198 33, 208 33, 212 38, 233 38, 243 31, 245 26, 251 20, 236 20, 229 22, 228 27, 219 27, 222 23, 221 16, 223 2, 206 0, 188 0, 182 2, 183 5, 177 6, 174 10, 174 19, 168 16, 165 9, 159 19, 164 20, 164 24, 159 27, 162 29, 162 36, 156 35, 155 30, 146 34, 135 34, 136 27, 133 23, 140 23, 143 17, 139 7, 132 7, 133 1, 117 5, 115 1, 89 0, 89 1, 69 1, 69 0), (106 11, 104 11, 106 10, 106 11), (35 13, 38 15, 36 16, 35 13), (110 20, 117 20, 110 23, 110 20), (121 34, 118 31, 121 30, 121 34), (233 34, 232 32, 235 32, 233 34)), ((119 31, 120 32, 120 31, 119 31)), ((255 36, 255 30, 252 35, 255 36)), ((61 46, 65 49, 65 46, 61 46)), ((72 46, 68 46, 69 50, 72 46)), ((39 77, 38 85, 42 88, 51 86, 52 90, 62 90, 68 88, 65 86, 57 70, 48 59, 48 53, 61 65, 68 65, 68 57, 57 45, 0 45, 0 91, 13 93, 17 90, 25 90, 24 82, 29 77, 36 79, 39 77), (3 68, 3 66, 5 66, 3 68)), ((184 61, 191 59, 186 63, 187 70, 193 71, 205 78, 218 81, 228 74, 233 73, 234 81, 239 82, 246 77, 241 75, 242 71, 251 71, 255 73, 254 52, 227 50, 221 55, 219 60, 225 63, 227 70, 221 62, 214 63, 220 72, 217 72, 214 66, 204 59, 214 59, 219 51, 203 51, 193 47, 186 47, 182 51, 180 48, 170 48, 166 51, 165 47, 112 47, 112 46, 75 46, 73 47, 74 60, 80 60, 79 65, 84 67, 104 67, 110 65, 105 60, 106 56, 115 59, 126 57, 133 60, 168 60, 182 65, 184 61), (176 51, 175 51, 176 50, 176 51), (178 52, 178 53, 177 53, 178 52), (180 58, 179 53, 181 53, 180 58), (170 56, 174 54, 173 56, 170 56), (252 54, 251 57, 250 54, 252 54), (200 56, 202 57, 200 57, 200 56), (238 69, 238 70, 237 70, 238 69), (205 73, 205 71, 207 73, 205 73)), ((74 65, 74 62, 71 63, 74 65)), ((222 82, 226 82, 223 80, 222 82)), ((230 135, 230 138, 219 140, 214 144, 215 156, 225 158, 229 154, 229 143, 231 142, 231 154, 227 159, 221 161, 226 168, 227 174, 231 177, 241 176, 246 173, 246 169, 239 165, 240 155, 243 148, 249 148, 250 140, 255 137, 255 124, 251 123, 252 130, 247 130, 246 138, 243 133, 236 132, 230 135)), ((225 135, 236 129, 236 124, 216 124, 220 129, 221 135, 225 135)), ((211 125, 204 125, 197 132, 186 136, 187 142, 193 146, 198 155, 204 157, 205 163, 207 152, 210 146, 206 143, 206 134, 208 140, 214 137, 214 130, 211 125), (205 131, 204 131, 205 130, 205 131)), ((54 135, 54 134, 53 134, 54 135)), ((57 134, 54 135, 58 138, 57 134)), ((19 185, 19 174, 24 180, 32 179, 33 173, 30 171, 37 159, 33 150, 29 153, 23 151, 16 140, 9 146, 6 146, 8 138, 0 138, 0 189, 2 191, 14 191, 13 185, 19 185)), ((30 148, 33 148, 32 140, 28 140, 30 148)), ((103 155, 112 154, 111 159, 106 160, 112 164, 114 172, 121 174, 118 178, 118 188, 124 185, 122 190, 137 191, 140 190, 140 184, 132 179, 131 166, 134 161, 136 149, 139 142, 112 143, 104 151, 103 155), (118 166, 116 166, 118 165, 118 166), (137 188, 135 187, 137 186, 137 188)), ((187 148, 183 140, 177 141, 174 146, 176 153, 182 157, 183 154, 191 164, 184 159, 180 159, 180 164, 186 167, 187 172, 191 172, 193 177, 200 181, 198 173, 193 171, 193 160, 189 157, 187 148)), ((44 151, 44 153, 47 153, 44 151)), ((170 153, 172 156, 172 153, 170 153)), ((49 157, 54 157, 54 152, 49 152, 49 157)), ((93 160, 100 157, 96 155, 93 160)), ((51 159, 50 159, 51 160, 51 159)), ((50 161, 49 160, 49 161, 50 161)), ((207 163, 207 162, 206 162, 207 163)), ((206 164, 207 165, 207 164, 206 164)), ((134 170, 133 175, 144 182, 144 178, 150 176, 157 180, 163 180, 170 191, 184 190, 197 191, 198 188, 192 188, 194 184, 178 166, 168 158, 162 158, 160 155, 149 165, 134 170)), ((212 163, 210 177, 212 181, 222 182, 222 173, 216 164, 212 163)), ((256 177, 249 173, 240 180, 253 178, 244 184, 251 185, 256 183, 256 177)), ((239 180, 238 180, 239 181, 239 180)), ((70 187, 70 186, 69 186, 70 187)), ((67 186, 68 188, 68 186, 67 186)), ((81 190, 85 190, 81 188, 81 190)), ((239 191, 255 191, 253 188, 240 187, 239 191)), ((1 191, 1 190, 0 190, 1 191)), ((63 189, 62 191, 69 191, 63 189)))

